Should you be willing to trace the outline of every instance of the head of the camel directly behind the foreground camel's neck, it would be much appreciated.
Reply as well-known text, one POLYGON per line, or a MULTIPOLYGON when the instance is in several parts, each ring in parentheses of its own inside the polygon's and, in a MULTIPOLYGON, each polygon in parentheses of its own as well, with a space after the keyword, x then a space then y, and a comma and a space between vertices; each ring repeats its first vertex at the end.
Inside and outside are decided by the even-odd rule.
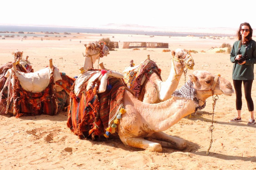
POLYGON ((171 55, 173 56, 173 60, 180 62, 182 67, 187 67, 190 70, 193 70, 195 62, 190 53, 185 52, 183 49, 176 49, 175 51, 171 51, 171 55))

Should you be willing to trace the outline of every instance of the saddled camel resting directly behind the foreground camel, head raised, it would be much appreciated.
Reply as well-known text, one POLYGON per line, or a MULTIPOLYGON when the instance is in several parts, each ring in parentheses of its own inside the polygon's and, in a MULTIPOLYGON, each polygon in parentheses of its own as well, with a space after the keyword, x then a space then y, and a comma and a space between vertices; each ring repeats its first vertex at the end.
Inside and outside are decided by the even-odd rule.
POLYGON ((190 53, 178 48, 175 51, 172 50, 171 55, 173 56, 171 70, 166 81, 162 81, 159 73, 161 71, 159 71, 156 63, 149 60, 149 58, 142 65, 128 67, 124 71, 124 81, 139 100, 144 103, 159 103, 170 99, 172 93, 178 87, 183 72, 185 74, 187 69, 193 69, 195 63, 190 53), (147 65, 143 65, 145 63, 147 65), (148 66, 150 64, 152 66, 148 66), (151 68, 150 71, 145 69, 143 69, 145 71, 141 71, 141 67, 145 66, 148 69, 151 68), (136 71, 135 75, 133 73, 134 70, 136 71), (141 83, 138 84, 137 81, 141 83))

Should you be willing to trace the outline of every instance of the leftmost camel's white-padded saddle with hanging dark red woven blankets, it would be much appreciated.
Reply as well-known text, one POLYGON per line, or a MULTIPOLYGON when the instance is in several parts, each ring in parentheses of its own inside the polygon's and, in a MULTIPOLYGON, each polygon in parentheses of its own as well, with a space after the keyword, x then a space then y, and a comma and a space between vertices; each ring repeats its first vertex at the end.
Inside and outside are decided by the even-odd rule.
POLYGON ((20 72, 17 62, 7 70, 6 82, 0 92, 0 114, 13 113, 14 116, 49 114, 62 111, 69 101, 70 88, 75 79, 60 73, 57 67, 50 65, 37 72, 20 72))

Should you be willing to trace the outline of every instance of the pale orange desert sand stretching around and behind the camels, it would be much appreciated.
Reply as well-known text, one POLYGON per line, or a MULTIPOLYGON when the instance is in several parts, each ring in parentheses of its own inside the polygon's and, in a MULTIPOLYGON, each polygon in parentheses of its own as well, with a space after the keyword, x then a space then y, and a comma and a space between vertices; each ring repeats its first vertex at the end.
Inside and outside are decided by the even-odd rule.
MULTIPOLYGON (((12 52, 23 51, 35 71, 53 64, 70 77, 79 74, 84 62, 84 44, 109 37, 111 41, 146 41, 169 43, 169 49, 196 50, 194 70, 206 70, 221 74, 230 82, 233 64, 228 53, 215 53, 223 43, 231 46, 236 39, 229 37, 165 37, 146 35, 102 35, 80 33, 63 38, 6 38, 0 39, 0 64, 13 61, 12 52), (114 37, 114 38, 113 38, 114 37), (81 43, 79 42, 81 41, 81 43), (213 48, 212 48, 213 47, 213 48)), ((235 37, 234 37, 235 38, 235 37)), ((255 38, 254 38, 255 39, 255 38)), ((100 62, 110 70, 123 72, 130 60, 140 64, 147 55, 162 70, 165 81, 171 69, 170 52, 163 48, 139 50, 116 48, 100 62)), ((98 62, 97 62, 98 63, 98 62)), ((98 68, 97 63, 94 68, 98 68)), ((193 70, 188 70, 188 74, 193 70)), ((188 77, 186 77, 188 80, 188 77)), ((185 83, 185 77, 178 89, 185 83)), ((256 83, 252 97, 256 101, 256 83)), ((206 100, 206 107, 196 114, 182 118, 165 133, 185 139, 187 148, 179 151, 163 148, 162 152, 150 152, 125 146, 119 139, 104 142, 81 140, 67 128, 67 112, 56 116, 39 115, 15 118, 0 115, 0 169, 256 169, 255 127, 248 126, 249 112, 243 97, 242 122, 228 123, 236 113, 235 94, 219 96, 214 109, 213 99, 206 100), (209 148, 214 120, 212 147, 209 148)))

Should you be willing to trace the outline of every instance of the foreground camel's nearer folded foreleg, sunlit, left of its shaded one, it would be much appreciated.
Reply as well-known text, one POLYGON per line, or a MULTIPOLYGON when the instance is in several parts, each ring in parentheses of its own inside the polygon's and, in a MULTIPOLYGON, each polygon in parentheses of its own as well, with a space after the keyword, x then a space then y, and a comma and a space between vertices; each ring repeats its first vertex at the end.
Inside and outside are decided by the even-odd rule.
POLYGON ((162 146, 159 143, 156 142, 151 142, 143 138, 122 138, 120 137, 122 142, 125 145, 128 145, 130 147, 134 148, 141 148, 141 149, 146 149, 149 151, 157 151, 161 152, 162 151, 162 146))

